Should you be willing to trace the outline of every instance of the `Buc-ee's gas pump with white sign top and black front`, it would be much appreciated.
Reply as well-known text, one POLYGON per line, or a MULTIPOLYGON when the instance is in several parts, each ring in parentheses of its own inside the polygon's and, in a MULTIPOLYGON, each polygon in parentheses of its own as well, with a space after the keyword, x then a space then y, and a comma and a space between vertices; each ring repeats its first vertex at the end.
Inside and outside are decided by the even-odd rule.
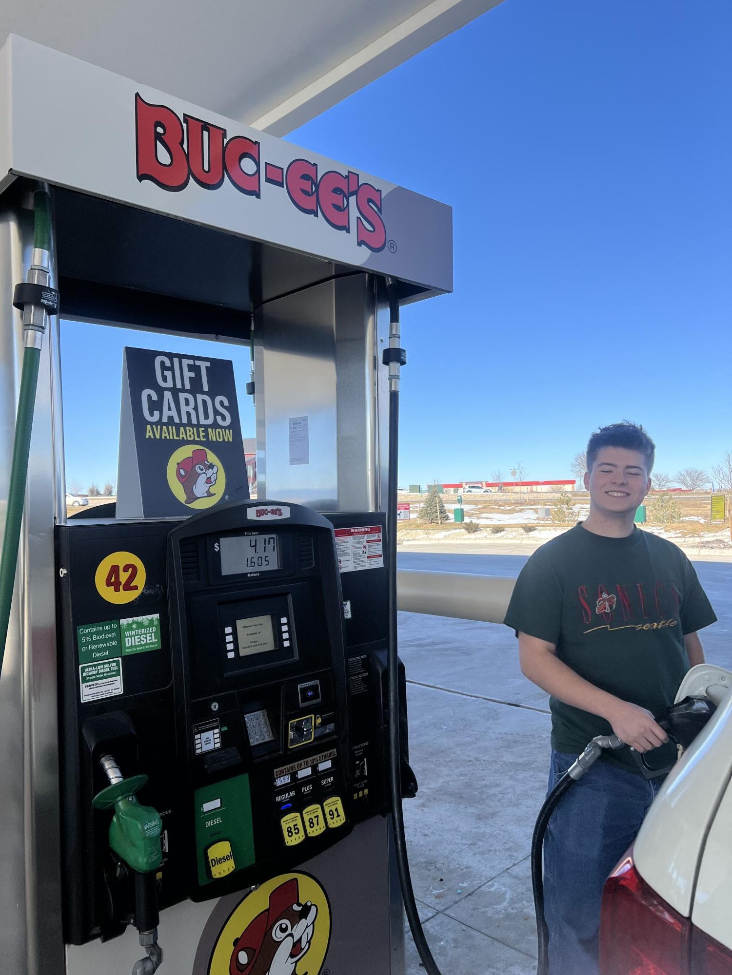
MULTIPOLYGON (((191 496, 170 517, 66 518, 49 322, 0 682, 0 731, 32 743, 0 757, 6 963, 151 975, 162 945, 164 971, 278 975, 284 945, 288 975, 397 973, 389 756, 401 795, 416 782, 389 641, 385 365, 403 362, 399 302, 452 287, 449 208, 20 38, 0 76, 11 122, 40 86, 68 135, 49 152, 11 125, 0 146, 7 387, 7 279, 26 275, 42 181, 66 323, 250 345, 260 488, 193 515, 191 496)), ((200 441, 204 413, 171 436, 200 441)))

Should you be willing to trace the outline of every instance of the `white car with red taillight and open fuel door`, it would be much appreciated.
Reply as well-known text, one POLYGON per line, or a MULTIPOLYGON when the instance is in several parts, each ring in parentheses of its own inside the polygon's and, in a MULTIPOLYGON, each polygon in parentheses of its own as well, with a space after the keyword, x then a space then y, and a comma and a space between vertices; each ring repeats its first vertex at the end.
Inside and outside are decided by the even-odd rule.
POLYGON ((732 975, 732 673, 700 664, 676 701, 716 710, 605 884, 601 975, 732 975))

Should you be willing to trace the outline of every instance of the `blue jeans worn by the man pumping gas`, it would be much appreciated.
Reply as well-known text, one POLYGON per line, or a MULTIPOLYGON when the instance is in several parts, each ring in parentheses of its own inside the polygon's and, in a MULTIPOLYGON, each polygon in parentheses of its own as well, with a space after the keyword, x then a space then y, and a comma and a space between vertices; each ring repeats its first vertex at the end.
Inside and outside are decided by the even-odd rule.
MULTIPOLYGON (((552 751, 549 791, 576 758, 552 751)), ((602 887, 662 782, 600 759, 554 809, 544 845, 551 975, 597 975, 602 887)))

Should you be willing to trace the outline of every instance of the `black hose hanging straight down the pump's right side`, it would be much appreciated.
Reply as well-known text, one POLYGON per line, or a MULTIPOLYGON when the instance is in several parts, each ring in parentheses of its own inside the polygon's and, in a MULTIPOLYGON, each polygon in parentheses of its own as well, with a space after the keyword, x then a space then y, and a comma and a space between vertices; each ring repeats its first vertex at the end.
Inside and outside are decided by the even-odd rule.
MULTIPOLYGON (((396 282, 386 285, 391 323, 399 322, 399 298, 396 282)), ((398 330, 397 330, 398 331, 398 330)), ((391 386, 392 384, 389 383, 391 386)), ((409 921, 414 943, 422 958, 427 975, 441 975, 429 951, 425 931, 422 927, 417 903, 412 889, 407 856, 407 839, 404 835, 404 812, 401 795, 401 742, 399 741, 399 675, 398 644, 396 638, 396 504, 397 504, 397 463, 399 460, 399 390, 389 389, 388 394, 388 486, 386 489, 386 560, 388 579, 388 630, 386 634, 386 661, 388 672, 388 765, 389 789, 391 799, 391 828, 394 836, 396 867, 401 885, 404 912, 409 921)))

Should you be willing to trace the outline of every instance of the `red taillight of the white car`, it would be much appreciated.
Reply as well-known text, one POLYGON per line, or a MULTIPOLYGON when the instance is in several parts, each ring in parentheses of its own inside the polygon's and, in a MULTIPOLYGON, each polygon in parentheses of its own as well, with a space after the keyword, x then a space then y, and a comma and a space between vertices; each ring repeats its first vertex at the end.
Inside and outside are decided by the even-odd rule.
POLYGON ((659 897, 629 853, 602 894, 600 975, 732 975, 732 952, 659 897))

